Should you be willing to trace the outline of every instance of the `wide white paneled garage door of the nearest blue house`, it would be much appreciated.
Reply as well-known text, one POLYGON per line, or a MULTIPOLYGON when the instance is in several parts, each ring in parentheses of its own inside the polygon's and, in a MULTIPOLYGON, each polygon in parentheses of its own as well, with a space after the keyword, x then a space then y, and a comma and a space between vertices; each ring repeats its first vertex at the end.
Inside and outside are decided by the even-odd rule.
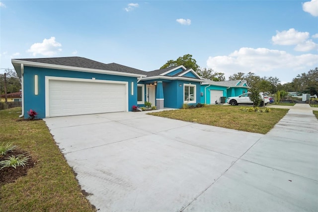
POLYGON ((49 81, 49 116, 127 110, 126 84, 49 81))

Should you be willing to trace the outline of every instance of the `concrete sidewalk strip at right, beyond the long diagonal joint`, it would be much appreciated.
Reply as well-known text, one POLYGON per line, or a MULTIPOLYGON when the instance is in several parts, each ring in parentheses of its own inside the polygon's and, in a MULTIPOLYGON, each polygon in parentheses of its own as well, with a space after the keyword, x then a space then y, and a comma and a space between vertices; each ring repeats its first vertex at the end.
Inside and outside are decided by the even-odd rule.
POLYGON ((184 211, 318 211, 318 121, 296 104, 184 211))

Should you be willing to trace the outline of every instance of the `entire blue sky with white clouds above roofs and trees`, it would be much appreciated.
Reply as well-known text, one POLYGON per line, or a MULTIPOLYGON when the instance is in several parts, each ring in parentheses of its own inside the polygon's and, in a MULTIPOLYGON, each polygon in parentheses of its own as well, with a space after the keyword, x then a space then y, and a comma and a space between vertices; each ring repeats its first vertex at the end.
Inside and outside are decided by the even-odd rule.
POLYGON ((0 68, 79 56, 152 71, 185 54, 291 82, 318 67, 318 0, 0 1, 0 68))

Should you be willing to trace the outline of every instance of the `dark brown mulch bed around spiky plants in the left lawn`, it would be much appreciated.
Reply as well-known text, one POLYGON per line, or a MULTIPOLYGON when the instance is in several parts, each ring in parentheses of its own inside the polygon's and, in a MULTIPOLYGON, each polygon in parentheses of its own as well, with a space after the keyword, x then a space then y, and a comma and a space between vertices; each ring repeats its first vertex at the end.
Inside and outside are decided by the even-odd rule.
MULTIPOLYGON (((0 156, 0 161, 5 160, 8 156, 17 156, 20 154, 24 154, 25 156, 28 156, 28 154, 25 151, 15 149, 12 152, 7 153, 4 156, 0 156)), ((36 160, 30 156, 28 160, 28 165, 23 166, 17 166, 16 169, 13 167, 5 167, 0 170, 0 185, 7 184, 7 183, 13 183, 18 178, 25 176, 30 168, 32 168, 36 163, 36 160)))

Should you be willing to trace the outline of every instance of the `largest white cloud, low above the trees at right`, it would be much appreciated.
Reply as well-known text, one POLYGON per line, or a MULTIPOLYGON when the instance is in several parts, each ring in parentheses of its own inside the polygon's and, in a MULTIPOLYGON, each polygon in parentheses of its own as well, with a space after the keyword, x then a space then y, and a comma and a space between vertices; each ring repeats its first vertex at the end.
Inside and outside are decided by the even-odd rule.
POLYGON ((209 57, 207 67, 225 73, 229 77, 235 73, 259 73, 282 70, 303 70, 318 65, 318 55, 291 55, 285 51, 267 48, 240 48, 228 56, 209 57))

